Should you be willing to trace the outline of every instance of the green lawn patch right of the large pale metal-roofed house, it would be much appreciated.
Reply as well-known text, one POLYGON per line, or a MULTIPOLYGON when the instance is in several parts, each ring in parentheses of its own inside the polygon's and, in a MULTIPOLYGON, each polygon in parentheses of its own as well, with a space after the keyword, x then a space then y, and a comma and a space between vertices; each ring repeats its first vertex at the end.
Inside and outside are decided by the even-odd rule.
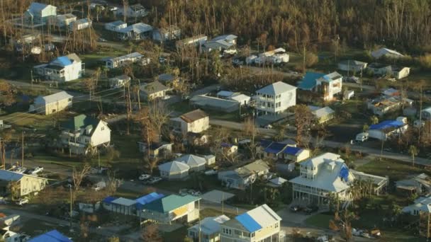
POLYGON ((402 180, 408 175, 427 173, 426 170, 418 166, 413 167, 409 163, 391 161, 388 159, 382 159, 381 161, 379 161, 379 159, 374 159, 373 161, 366 163, 364 166, 360 166, 358 171, 373 175, 388 175, 391 180, 402 180))

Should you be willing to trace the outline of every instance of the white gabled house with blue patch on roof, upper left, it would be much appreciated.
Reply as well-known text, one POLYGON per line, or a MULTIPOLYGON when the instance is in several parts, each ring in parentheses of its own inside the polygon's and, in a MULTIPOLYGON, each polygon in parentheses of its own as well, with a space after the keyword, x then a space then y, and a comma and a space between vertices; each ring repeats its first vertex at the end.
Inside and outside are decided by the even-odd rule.
POLYGON ((33 67, 35 74, 51 81, 73 81, 82 77, 85 65, 77 54, 57 57, 48 64, 33 67))

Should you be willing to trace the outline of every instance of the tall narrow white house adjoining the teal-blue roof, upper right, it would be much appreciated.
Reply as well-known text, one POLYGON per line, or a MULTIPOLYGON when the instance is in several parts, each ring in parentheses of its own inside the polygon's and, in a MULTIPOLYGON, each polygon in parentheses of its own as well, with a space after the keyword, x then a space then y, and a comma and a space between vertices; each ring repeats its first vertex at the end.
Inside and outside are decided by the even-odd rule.
POLYGON ((323 100, 332 100, 342 92, 342 75, 337 71, 316 79, 317 91, 323 93, 323 100))

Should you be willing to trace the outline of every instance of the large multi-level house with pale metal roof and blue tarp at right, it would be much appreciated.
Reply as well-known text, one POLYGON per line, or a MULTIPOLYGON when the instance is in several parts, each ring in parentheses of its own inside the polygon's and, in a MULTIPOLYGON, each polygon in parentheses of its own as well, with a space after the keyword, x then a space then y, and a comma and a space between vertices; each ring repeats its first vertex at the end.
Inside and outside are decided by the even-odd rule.
POLYGON ((289 180, 293 185, 293 200, 308 204, 327 204, 330 193, 341 200, 350 200, 352 175, 338 154, 325 153, 301 161, 300 175, 289 180))

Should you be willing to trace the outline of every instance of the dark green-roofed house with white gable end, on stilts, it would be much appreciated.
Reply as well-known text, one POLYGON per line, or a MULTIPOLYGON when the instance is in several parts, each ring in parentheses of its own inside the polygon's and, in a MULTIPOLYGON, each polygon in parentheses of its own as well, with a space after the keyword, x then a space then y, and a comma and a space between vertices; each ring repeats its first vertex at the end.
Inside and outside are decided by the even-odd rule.
POLYGON ((60 125, 62 144, 73 154, 86 154, 89 149, 108 146, 111 129, 102 120, 86 115, 77 115, 60 125))

